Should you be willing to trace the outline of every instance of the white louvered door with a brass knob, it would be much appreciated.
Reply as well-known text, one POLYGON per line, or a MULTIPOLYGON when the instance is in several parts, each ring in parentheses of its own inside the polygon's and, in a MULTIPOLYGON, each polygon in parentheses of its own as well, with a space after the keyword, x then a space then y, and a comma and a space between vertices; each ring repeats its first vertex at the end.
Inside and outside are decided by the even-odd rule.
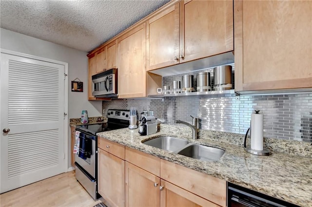
POLYGON ((64 66, 1 53, 0 80, 2 193, 64 172, 64 66))

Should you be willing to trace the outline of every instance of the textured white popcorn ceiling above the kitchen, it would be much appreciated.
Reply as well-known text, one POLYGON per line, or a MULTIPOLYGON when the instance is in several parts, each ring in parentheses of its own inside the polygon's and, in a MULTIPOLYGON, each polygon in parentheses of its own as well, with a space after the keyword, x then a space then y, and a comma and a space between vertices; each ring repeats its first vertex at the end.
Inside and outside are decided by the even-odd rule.
POLYGON ((0 26, 89 52, 169 1, 0 0, 0 26))

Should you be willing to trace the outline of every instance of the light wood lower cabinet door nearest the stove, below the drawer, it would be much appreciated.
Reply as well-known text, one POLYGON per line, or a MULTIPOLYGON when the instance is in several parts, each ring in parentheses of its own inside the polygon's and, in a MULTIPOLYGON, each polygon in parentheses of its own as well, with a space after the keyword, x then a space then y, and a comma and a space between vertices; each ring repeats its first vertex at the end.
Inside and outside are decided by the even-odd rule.
POLYGON ((111 206, 125 206, 125 161, 98 148, 98 193, 111 206))

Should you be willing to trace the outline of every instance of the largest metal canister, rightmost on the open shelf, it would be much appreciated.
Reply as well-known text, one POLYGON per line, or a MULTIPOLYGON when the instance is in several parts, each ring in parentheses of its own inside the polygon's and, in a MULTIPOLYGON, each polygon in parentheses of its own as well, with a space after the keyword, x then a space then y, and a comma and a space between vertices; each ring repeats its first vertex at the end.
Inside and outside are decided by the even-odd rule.
POLYGON ((215 90, 232 89, 232 66, 218 66, 214 68, 215 90))

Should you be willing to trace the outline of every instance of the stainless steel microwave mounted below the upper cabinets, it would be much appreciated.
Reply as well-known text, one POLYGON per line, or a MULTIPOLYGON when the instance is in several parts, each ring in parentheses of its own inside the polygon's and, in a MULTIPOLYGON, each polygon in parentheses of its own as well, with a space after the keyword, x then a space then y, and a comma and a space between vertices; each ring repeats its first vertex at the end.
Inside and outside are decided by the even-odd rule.
POLYGON ((99 98, 117 97, 117 69, 109 69, 92 76, 92 95, 99 98))

